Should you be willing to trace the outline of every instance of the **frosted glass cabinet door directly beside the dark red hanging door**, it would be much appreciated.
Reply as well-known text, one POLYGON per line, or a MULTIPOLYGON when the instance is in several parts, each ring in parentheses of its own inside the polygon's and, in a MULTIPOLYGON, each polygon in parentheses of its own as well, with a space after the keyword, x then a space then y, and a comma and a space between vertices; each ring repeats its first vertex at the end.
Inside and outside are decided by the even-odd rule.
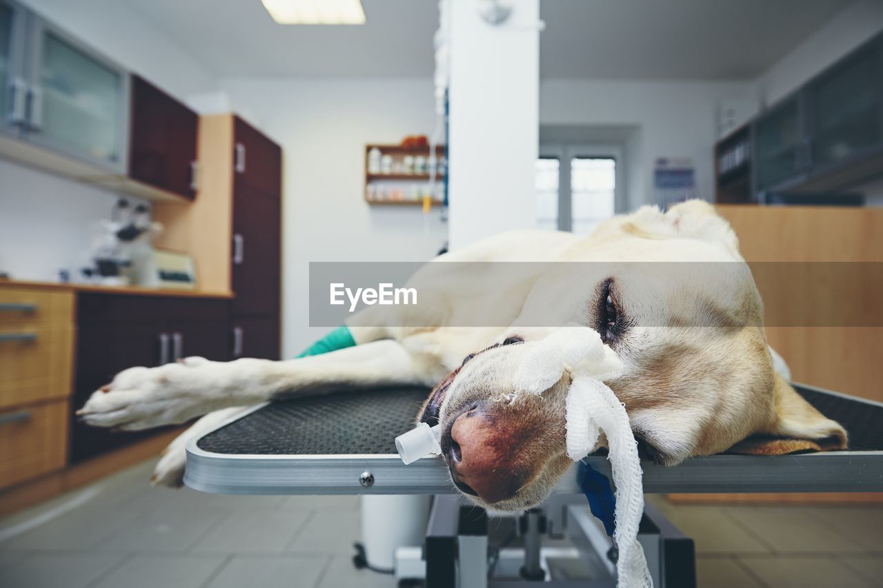
POLYGON ((30 128, 47 147, 125 169, 128 79, 45 24, 35 27, 30 128))

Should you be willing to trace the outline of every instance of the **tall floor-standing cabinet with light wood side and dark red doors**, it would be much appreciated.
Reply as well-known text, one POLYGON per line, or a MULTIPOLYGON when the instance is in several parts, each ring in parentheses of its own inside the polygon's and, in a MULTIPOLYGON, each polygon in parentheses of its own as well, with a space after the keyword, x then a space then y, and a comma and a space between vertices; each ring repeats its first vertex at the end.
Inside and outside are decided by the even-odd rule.
POLYGON ((157 204, 156 245, 190 253, 202 290, 232 291, 223 338, 237 357, 279 358, 282 149, 234 115, 200 119, 200 198, 157 204))

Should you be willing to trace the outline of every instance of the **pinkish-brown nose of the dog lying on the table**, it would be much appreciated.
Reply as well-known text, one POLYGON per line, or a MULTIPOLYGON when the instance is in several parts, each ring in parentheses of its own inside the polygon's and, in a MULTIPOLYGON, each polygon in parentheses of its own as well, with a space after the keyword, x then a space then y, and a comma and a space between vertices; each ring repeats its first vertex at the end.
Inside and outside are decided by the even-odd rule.
POLYGON ((505 438, 480 404, 460 414, 442 436, 451 478, 465 494, 493 504, 510 498, 522 486, 521 476, 510 467, 512 448, 505 438))

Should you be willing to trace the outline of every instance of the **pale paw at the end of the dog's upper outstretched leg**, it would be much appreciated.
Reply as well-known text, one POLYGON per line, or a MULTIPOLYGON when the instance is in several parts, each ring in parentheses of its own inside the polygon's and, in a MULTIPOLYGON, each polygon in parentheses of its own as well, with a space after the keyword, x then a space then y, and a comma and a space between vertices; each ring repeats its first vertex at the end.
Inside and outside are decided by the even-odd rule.
POLYGON ((222 366, 186 358, 165 366, 129 368, 96 390, 77 417, 87 425, 125 431, 183 423, 213 408, 205 393, 216 384, 222 366))

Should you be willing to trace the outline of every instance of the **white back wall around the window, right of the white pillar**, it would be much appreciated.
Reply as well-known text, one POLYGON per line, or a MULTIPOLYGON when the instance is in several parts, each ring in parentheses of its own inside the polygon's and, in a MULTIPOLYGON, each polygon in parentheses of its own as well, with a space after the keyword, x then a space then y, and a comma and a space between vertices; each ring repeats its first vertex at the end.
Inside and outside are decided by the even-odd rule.
POLYGON ((540 83, 540 124, 634 127, 626 145, 629 208, 653 203, 657 157, 689 157, 700 198, 712 200, 717 110, 751 98, 752 82, 548 79, 540 83))

